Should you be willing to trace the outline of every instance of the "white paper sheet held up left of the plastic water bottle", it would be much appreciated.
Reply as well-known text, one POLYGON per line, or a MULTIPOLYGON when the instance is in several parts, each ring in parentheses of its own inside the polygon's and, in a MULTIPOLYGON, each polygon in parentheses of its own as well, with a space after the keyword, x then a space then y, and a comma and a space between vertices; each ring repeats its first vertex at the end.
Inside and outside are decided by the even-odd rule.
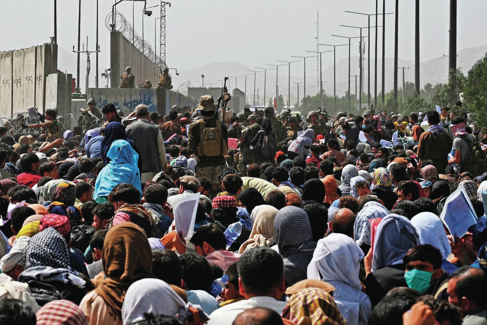
POLYGON ((192 236, 199 200, 200 193, 194 193, 182 198, 176 206, 173 207, 176 232, 178 234, 180 231, 183 232, 184 238, 190 238, 192 236))

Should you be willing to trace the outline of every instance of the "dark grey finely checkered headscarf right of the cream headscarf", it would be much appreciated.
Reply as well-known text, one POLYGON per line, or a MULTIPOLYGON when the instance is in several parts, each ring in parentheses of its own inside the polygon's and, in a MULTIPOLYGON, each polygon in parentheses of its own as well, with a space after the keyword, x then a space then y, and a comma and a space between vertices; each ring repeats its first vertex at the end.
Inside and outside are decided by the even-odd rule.
POLYGON ((315 250, 308 214, 298 207, 284 207, 274 219, 276 242, 282 258, 315 250))

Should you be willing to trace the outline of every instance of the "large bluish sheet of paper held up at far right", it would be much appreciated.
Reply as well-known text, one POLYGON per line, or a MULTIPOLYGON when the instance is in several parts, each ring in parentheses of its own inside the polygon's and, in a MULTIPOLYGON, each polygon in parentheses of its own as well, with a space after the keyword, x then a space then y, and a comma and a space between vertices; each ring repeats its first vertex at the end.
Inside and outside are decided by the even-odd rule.
POLYGON ((470 226, 477 224, 477 214, 463 187, 459 187, 447 198, 440 219, 450 231, 453 242, 455 236, 461 238, 470 226))

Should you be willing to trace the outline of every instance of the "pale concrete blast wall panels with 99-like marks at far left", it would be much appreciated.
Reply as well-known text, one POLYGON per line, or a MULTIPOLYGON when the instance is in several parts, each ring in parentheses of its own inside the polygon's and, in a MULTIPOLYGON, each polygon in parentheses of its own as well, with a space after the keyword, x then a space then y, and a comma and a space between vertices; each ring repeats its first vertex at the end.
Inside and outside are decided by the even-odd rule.
POLYGON ((0 116, 27 112, 29 106, 44 112, 46 78, 56 72, 56 44, 0 53, 0 116))

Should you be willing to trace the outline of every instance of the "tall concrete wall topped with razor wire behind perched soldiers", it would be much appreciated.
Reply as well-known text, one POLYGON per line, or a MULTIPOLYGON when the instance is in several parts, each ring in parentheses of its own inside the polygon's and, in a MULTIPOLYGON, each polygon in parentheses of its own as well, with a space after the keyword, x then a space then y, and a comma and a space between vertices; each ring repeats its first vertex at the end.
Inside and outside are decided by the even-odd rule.
POLYGON ((135 76, 135 87, 144 80, 150 80, 152 86, 157 87, 161 75, 159 66, 140 52, 122 33, 111 32, 110 37, 110 87, 118 88, 120 76, 128 66, 132 68, 132 75, 135 76))

